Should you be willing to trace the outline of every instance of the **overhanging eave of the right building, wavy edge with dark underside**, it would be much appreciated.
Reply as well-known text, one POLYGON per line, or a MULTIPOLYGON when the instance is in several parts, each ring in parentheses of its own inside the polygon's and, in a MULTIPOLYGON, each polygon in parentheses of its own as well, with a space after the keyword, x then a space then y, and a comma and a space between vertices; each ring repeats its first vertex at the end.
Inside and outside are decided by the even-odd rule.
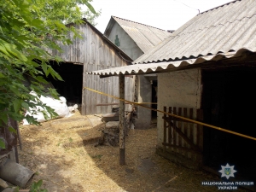
POLYGON ((119 75, 144 75, 153 73, 168 73, 199 67, 226 67, 237 62, 256 59, 256 52, 249 49, 239 49, 232 53, 201 56, 184 61, 165 61, 160 63, 137 64, 128 67, 114 67, 106 70, 89 72, 101 78, 119 75), (220 65, 219 65, 220 64, 220 65))

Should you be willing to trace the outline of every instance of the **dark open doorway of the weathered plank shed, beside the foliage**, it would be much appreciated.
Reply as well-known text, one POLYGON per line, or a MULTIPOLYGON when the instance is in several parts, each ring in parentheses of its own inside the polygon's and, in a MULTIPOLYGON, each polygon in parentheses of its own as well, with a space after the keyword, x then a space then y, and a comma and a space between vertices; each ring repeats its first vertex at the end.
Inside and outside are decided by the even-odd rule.
POLYGON ((61 75, 64 81, 53 79, 51 76, 47 79, 50 81, 57 92, 67 99, 67 106, 82 103, 83 89, 83 65, 74 65, 73 63, 62 62, 59 65, 52 62, 53 69, 61 75))

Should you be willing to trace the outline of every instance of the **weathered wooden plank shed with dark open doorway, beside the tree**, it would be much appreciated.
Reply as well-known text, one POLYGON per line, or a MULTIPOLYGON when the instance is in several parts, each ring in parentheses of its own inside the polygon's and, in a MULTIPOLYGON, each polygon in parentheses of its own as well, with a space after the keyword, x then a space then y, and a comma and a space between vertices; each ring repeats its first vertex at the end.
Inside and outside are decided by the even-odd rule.
MULTIPOLYGON (((55 79, 49 79, 49 81, 61 96, 67 98, 68 104, 81 104, 83 115, 110 113, 111 106, 119 101, 89 90, 83 90, 83 87, 119 96, 119 79, 117 77, 100 79, 100 77, 88 75, 86 72, 128 66, 131 65, 132 60, 87 20, 80 25, 72 23, 67 26, 76 27, 81 32, 82 38, 73 38, 73 33, 70 32, 68 36, 73 44, 63 45, 60 43, 63 49, 62 53, 57 50, 49 50, 50 54, 59 55, 63 60, 61 65, 56 65, 55 61, 52 61, 52 67, 57 73, 60 73, 64 82, 55 81, 55 79)), ((134 80, 133 76, 125 77, 125 99, 129 101, 133 101, 134 98, 134 80)), ((126 110, 128 107, 127 105, 126 110)))

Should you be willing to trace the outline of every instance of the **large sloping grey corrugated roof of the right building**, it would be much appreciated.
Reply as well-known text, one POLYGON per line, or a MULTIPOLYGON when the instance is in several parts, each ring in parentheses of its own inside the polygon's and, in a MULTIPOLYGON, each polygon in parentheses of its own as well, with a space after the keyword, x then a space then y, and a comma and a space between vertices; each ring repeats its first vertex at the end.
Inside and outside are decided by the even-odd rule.
POLYGON ((186 60, 241 48, 256 51, 255 37, 256 1, 237 0, 196 15, 133 63, 186 60))

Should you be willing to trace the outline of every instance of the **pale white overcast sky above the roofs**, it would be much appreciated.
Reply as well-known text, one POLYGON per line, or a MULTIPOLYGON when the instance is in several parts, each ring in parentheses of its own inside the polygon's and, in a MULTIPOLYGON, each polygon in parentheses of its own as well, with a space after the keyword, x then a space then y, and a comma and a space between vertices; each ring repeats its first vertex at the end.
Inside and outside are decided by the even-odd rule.
POLYGON ((102 9, 96 28, 104 33, 111 15, 164 30, 176 30, 195 15, 232 0, 93 0, 102 9))

